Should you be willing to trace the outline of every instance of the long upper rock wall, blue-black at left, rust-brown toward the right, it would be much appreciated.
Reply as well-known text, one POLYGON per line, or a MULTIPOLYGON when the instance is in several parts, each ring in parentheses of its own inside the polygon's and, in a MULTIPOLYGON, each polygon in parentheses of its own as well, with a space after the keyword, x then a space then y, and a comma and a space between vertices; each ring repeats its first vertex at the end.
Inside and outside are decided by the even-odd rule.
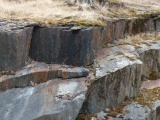
POLYGON ((99 28, 72 28, 35 27, 30 57, 52 64, 89 65, 93 63, 97 51, 107 43, 116 42, 127 35, 155 30, 152 19, 117 20, 99 28))

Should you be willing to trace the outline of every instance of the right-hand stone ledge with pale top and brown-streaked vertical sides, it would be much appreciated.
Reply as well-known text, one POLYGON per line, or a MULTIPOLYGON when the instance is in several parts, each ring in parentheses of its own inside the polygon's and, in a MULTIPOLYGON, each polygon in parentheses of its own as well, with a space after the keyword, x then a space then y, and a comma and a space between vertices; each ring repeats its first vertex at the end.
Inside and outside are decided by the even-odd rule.
POLYGON ((99 51, 96 80, 87 91, 80 113, 97 113, 138 96, 142 80, 160 76, 160 40, 119 44, 99 51))

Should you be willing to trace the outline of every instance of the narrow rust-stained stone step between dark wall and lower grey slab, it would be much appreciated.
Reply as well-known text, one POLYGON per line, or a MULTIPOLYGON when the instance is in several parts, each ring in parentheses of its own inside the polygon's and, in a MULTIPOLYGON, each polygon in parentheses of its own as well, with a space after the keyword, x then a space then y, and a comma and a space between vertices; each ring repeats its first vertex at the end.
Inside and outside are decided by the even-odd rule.
POLYGON ((11 88, 20 88, 26 86, 35 86, 48 80, 61 78, 80 78, 87 77, 89 70, 82 67, 62 66, 56 64, 45 64, 32 62, 15 75, 3 75, 0 77, 0 91, 5 91, 11 88))

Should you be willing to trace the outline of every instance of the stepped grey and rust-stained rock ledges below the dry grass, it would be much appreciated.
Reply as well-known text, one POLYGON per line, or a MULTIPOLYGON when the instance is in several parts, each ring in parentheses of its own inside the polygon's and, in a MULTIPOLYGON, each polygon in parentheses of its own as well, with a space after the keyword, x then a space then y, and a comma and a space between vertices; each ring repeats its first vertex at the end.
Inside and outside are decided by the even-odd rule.
POLYGON ((74 120, 136 98, 143 80, 159 78, 160 39, 122 42, 142 32, 158 36, 159 23, 45 28, 1 21, 1 72, 15 71, 0 77, 1 119, 74 120))

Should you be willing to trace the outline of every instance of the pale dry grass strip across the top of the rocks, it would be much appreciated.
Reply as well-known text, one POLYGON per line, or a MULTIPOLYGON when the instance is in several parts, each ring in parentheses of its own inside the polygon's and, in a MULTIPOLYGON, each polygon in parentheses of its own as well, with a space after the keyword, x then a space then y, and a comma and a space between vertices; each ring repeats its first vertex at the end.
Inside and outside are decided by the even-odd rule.
POLYGON ((140 7, 149 8, 150 12, 160 11, 160 0, 109 0, 110 2, 125 3, 127 8, 110 8, 94 4, 71 4, 69 0, 0 0, 0 19, 31 20, 45 24, 85 24, 104 25, 106 19, 118 17, 137 17, 144 14, 140 7), (137 2, 138 1, 138 2, 137 2), (152 3, 152 4, 151 4, 152 3), (138 6, 138 7, 137 7, 138 6), (136 7, 136 9, 134 8, 136 7))

